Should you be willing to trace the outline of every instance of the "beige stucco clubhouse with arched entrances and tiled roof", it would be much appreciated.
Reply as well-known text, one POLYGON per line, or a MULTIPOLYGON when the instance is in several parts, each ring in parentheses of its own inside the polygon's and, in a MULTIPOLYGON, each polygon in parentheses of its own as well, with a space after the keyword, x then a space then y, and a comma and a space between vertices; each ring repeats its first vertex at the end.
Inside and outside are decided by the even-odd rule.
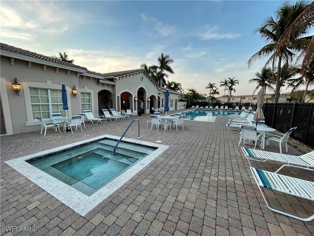
MULTIPOLYGON (((165 104, 165 88, 161 88, 143 69, 98 73, 87 68, 52 59, 7 44, 0 44, 1 135, 40 129, 36 116, 50 120, 52 113, 71 117, 91 110, 95 117, 102 109, 131 108, 133 115, 165 104), (21 84, 17 93, 12 84, 21 84), (61 86, 67 90, 69 110, 62 105, 61 86), (77 89, 77 95, 73 90, 77 89)), ((169 109, 183 109, 183 94, 169 90, 169 109)))

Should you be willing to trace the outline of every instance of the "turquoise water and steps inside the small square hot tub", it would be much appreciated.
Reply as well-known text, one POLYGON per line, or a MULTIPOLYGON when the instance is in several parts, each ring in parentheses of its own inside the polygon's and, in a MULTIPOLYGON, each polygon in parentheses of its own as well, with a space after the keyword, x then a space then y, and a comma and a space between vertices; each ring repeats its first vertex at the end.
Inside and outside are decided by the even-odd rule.
POLYGON ((156 150, 121 142, 113 155, 116 144, 116 140, 104 139, 27 162, 90 196, 133 163, 156 150))

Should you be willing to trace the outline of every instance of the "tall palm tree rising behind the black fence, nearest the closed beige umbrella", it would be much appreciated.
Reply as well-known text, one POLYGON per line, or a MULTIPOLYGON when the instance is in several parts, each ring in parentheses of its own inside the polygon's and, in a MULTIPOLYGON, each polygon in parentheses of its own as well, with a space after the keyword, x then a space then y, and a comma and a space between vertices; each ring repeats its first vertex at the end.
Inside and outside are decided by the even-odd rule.
MULTIPOLYGON (((295 54, 293 50, 300 50, 304 47, 306 41, 304 38, 299 38, 305 31, 300 30, 294 34, 294 37, 287 44, 279 44, 279 39, 285 32, 285 30, 292 24, 297 16, 306 8, 307 3, 304 1, 298 1, 295 5, 289 3, 283 3, 277 10, 277 19, 274 20, 272 17, 266 18, 264 25, 257 29, 255 32, 260 32, 262 38, 266 42, 270 42, 262 49, 254 54, 248 61, 250 66, 256 59, 269 56, 266 65, 272 62, 273 72, 275 70, 275 62, 277 61, 277 78, 276 78, 276 89, 275 89, 275 102, 278 102, 280 94, 280 78, 281 78, 281 63, 292 61, 295 54)), ((275 73, 273 73, 275 76, 275 73)))

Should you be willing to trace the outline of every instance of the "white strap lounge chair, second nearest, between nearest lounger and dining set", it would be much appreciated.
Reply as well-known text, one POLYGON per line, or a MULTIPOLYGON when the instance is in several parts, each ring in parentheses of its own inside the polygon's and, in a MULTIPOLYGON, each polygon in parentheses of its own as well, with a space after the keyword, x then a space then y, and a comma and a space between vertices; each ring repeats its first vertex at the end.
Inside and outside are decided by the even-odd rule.
POLYGON ((308 171, 314 171, 314 151, 306 154, 295 156, 289 154, 281 154, 271 151, 253 150, 251 148, 241 148, 248 160, 265 162, 267 160, 287 163, 281 166, 276 172, 285 166, 294 166, 308 171))

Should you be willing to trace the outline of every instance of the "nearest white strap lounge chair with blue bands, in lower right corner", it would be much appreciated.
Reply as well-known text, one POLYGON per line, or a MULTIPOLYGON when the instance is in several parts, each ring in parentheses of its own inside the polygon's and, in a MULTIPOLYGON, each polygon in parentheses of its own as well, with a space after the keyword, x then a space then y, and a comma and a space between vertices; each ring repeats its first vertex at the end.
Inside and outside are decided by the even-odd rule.
POLYGON ((270 210, 283 214, 283 215, 287 215, 289 217, 292 217, 298 220, 302 220, 302 221, 311 221, 314 219, 314 214, 307 218, 302 218, 297 215, 292 215, 290 213, 287 213, 283 210, 279 210, 279 209, 275 209, 271 207, 270 205, 268 205, 266 197, 262 191, 262 187, 263 187, 263 188, 268 188, 271 190, 276 190, 278 192, 292 195, 295 197, 314 201, 314 182, 300 179, 300 178, 277 174, 277 172, 273 173, 269 171, 264 171, 261 169, 253 168, 252 166, 250 167, 250 169, 257 183, 257 186, 260 189, 262 198, 264 199, 266 206, 270 210))

